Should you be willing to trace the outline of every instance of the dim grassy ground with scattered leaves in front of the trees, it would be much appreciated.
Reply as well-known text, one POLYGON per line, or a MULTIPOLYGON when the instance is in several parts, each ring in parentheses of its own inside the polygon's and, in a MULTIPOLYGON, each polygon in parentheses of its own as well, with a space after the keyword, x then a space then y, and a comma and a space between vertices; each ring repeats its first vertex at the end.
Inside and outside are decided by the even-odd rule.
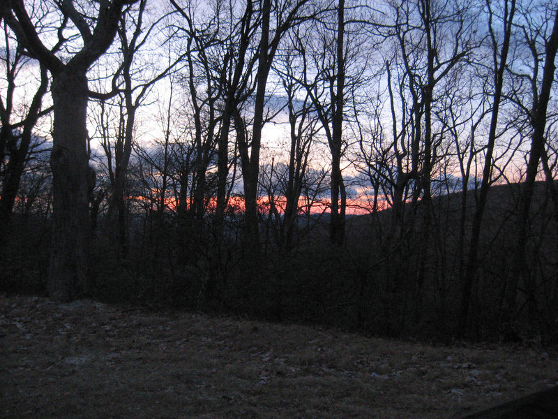
POLYGON ((558 384, 555 349, 0 296, 2 418, 460 418, 558 384))

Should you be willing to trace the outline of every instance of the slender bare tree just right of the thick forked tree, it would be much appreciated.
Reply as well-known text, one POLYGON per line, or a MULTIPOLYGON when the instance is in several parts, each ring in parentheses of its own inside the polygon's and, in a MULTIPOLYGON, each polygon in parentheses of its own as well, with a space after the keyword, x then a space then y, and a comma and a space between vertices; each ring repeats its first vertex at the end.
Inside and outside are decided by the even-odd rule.
MULTIPOLYGON (((157 59, 156 56, 151 58, 150 63, 146 61, 147 52, 144 50, 150 46, 150 43, 153 43, 153 39, 151 39, 153 32, 165 17, 164 13, 161 17, 151 17, 146 10, 146 5, 146 0, 140 0, 138 3, 126 6, 123 10, 117 31, 119 53, 112 54, 110 57, 120 59, 119 66, 114 70, 112 77, 112 90, 105 94, 95 95, 100 103, 100 112, 110 108, 119 110, 116 120, 118 128, 114 141, 110 139, 110 136, 107 137, 106 122, 101 119, 97 127, 101 134, 105 156, 108 159, 107 168, 111 180, 105 226, 107 226, 111 238, 116 236, 116 248, 118 249, 116 253, 119 257, 126 256, 128 247, 124 188, 133 149, 137 110, 146 101, 153 85, 167 77, 182 58, 174 59, 172 52, 168 50, 166 65, 163 64, 165 61, 153 62, 157 59), (149 17, 151 17, 151 22, 149 17), (148 65, 153 70, 146 71, 148 65), (105 103, 106 101, 110 101, 110 103, 105 103)), ((102 117, 103 115, 101 115, 102 117)))

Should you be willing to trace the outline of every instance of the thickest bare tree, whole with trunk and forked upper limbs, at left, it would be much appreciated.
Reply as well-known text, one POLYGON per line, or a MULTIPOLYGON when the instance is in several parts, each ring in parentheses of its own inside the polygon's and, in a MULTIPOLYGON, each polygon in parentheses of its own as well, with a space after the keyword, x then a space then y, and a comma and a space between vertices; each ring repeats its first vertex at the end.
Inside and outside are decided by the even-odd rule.
POLYGON ((53 233, 48 291, 56 300, 73 300, 89 292, 92 179, 86 131, 87 71, 112 44, 123 6, 134 2, 52 1, 47 15, 33 5, 26 7, 22 0, 4 1, 0 6, 18 43, 52 75, 53 233), (54 47, 40 38, 48 23, 58 36, 54 47))

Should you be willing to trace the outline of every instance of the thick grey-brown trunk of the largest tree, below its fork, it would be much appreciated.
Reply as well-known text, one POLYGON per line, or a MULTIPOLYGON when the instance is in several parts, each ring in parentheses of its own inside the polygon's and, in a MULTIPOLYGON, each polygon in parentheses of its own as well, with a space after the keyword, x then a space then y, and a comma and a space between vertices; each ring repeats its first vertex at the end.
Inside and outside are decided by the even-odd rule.
POLYGON ((87 79, 66 68, 52 81, 54 102, 52 168, 52 249, 48 292, 69 301, 89 291, 89 163, 87 79))

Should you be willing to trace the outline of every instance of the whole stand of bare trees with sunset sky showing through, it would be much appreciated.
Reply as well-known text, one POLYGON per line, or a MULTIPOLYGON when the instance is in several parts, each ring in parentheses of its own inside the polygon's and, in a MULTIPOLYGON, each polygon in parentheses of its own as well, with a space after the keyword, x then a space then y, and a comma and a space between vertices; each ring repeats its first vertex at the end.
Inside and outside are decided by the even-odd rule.
POLYGON ((556 0, 6 0, 0 292, 558 341, 556 0))

